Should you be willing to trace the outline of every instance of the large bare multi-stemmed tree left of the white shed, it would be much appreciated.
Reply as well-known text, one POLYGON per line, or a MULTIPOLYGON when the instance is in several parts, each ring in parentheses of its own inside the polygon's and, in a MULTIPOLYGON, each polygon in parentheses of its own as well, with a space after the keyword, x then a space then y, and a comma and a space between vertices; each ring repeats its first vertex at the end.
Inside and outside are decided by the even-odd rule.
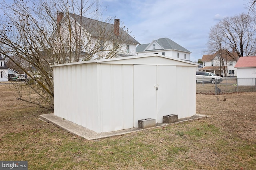
POLYGON ((54 108, 50 65, 116 57, 136 41, 123 29, 114 35, 113 24, 98 21, 100 9, 92 0, 2 0, 0 5, 0 54, 30 78, 14 84, 17 99, 47 109, 54 108))

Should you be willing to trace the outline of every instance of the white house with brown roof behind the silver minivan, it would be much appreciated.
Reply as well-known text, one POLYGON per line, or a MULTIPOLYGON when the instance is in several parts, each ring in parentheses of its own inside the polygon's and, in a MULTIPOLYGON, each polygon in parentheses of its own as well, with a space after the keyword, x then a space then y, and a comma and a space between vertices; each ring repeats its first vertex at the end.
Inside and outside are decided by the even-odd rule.
POLYGON ((216 52, 211 55, 203 55, 201 61, 203 67, 199 68, 200 71, 213 72, 218 76, 225 76, 224 70, 226 70, 226 76, 236 76, 236 61, 238 60, 238 55, 236 52, 227 52, 222 50, 222 52, 216 52), (220 57, 222 56, 222 57, 220 57), (232 58, 232 57, 234 58, 232 58), (222 61, 222 67, 220 72, 220 61, 222 61))

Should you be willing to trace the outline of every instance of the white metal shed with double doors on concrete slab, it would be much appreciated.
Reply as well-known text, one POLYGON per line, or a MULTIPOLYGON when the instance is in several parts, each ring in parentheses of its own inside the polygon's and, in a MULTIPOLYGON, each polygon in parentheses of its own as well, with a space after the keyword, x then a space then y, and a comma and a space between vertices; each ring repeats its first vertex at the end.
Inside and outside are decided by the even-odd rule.
POLYGON ((196 63, 162 55, 54 65, 54 115, 97 133, 196 114, 196 63))

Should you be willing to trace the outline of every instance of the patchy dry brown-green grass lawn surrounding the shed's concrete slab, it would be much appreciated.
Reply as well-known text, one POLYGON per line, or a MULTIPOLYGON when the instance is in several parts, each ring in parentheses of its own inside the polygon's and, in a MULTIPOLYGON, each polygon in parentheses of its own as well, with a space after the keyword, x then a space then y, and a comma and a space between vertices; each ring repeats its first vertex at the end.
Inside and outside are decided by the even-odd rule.
POLYGON ((196 112, 210 117, 87 141, 40 121, 49 111, 10 87, 0 85, 0 160, 27 160, 31 170, 256 167, 256 92, 197 94, 196 112))

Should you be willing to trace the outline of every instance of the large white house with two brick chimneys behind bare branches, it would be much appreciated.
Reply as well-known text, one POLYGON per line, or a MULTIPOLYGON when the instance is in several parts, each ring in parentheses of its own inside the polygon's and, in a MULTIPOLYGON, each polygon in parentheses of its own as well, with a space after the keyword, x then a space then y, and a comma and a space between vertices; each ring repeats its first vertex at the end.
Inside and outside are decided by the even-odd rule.
MULTIPOLYGON (((140 44, 120 28, 119 19, 111 24, 62 12, 57 14, 52 41, 56 44, 55 53, 79 51, 80 56, 84 53, 93 56, 92 59, 135 55, 136 45, 140 44)), ((88 59, 77 61, 82 60, 88 59)))

